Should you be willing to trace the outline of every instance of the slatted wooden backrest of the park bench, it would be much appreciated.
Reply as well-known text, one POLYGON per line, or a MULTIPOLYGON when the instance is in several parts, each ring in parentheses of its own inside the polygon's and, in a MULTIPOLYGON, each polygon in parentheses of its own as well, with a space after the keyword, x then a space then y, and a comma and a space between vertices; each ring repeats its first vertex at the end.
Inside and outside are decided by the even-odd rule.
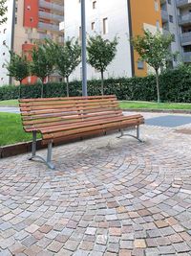
POLYGON ((122 115, 114 95, 25 99, 19 100, 19 106, 26 131, 122 115))

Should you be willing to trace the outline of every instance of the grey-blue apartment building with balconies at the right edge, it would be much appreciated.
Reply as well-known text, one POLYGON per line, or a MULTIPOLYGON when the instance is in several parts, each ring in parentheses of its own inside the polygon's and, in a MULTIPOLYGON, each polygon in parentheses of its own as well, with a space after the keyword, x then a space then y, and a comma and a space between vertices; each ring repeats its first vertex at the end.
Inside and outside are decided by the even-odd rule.
POLYGON ((179 52, 173 66, 191 63, 191 0, 160 0, 164 33, 174 35, 171 48, 179 52))

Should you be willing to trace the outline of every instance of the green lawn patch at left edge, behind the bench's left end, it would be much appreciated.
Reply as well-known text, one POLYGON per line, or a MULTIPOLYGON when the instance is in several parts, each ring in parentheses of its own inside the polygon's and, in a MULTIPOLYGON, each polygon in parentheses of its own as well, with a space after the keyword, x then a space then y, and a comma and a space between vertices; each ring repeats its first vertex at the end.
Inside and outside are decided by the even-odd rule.
POLYGON ((19 114, 0 113, 0 147, 32 140, 23 130, 19 114))

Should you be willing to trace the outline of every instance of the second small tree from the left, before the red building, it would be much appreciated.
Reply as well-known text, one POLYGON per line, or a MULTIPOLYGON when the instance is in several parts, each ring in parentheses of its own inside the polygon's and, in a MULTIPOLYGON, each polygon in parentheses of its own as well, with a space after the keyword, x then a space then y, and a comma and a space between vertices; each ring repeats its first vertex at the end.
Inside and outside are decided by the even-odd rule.
POLYGON ((32 49, 32 76, 42 81, 41 97, 43 97, 43 82, 53 73, 55 64, 55 45, 52 40, 36 44, 32 49))

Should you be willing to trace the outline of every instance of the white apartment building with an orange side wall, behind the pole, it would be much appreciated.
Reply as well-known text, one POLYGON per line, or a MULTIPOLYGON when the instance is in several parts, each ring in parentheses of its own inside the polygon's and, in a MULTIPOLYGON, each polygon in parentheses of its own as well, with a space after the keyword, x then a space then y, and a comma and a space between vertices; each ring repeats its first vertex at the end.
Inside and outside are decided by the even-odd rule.
MULTIPOLYGON (((64 10, 65 38, 80 38, 80 0, 65 0, 64 10)), ((149 69, 138 61, 130 37, 142 34, 143 29, 156 32, 161 28, 159 0, 86 0, 86 28, 87 35, 118 37, 117 57, 108 66, 106 78, 145 76, 149 69)), ((72 77, 80 79, 80 65, 72 77)), ((94 78, 99 73, 88 65, 88 79, 94 78)))

